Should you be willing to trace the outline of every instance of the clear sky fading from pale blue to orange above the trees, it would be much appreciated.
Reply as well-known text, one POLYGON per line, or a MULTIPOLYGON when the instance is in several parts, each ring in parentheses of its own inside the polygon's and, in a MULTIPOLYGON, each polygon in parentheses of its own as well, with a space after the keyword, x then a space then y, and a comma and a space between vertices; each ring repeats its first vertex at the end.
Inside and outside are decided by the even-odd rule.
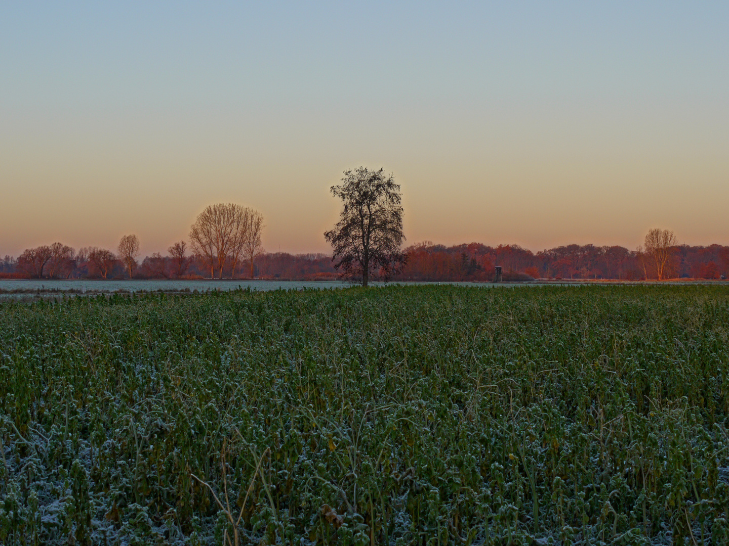
POLYGON ((406 244, 729 244, 729 3, 0 3, 0 255, 142 256, 206 205, 327 252, 346 169, 406 244))

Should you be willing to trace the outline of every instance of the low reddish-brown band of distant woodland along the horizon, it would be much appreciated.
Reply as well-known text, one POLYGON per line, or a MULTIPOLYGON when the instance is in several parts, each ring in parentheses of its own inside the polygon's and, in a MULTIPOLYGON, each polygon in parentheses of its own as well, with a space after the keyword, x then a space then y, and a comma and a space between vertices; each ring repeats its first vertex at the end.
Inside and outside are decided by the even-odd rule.
MULTIPOLYGON (((222 261, 217 256, 188 255, 184 241, 168 248, 168 254, 154 253, 141 261, 120 257, 111 250, 96 247, 74 251, 62 243, 25 250, 18 258, 0 261, 0 277, 55 279, 202 279, 214 277, 276 280, 332 280, 337 272, 330 256, 321 253, 260 253, 251 261, 234 256, 222 261), (212 258, 212 259, 211 259, 212 258), (218 267, 222 266, 222 274, 218 267)), ((494 267, 502 266, 503 280, 658 278, 656 261, 645 250, 620 246, 567 245, 541 252, 518 245, 490 247, 435 245, 421 242, 405 249, 405 268, 394 280, 482 281, 494 278, 494 267)), ((729 277, 729 247, 722 245, 672 246, 667 254, 663 278, 720 279, 729 277)))

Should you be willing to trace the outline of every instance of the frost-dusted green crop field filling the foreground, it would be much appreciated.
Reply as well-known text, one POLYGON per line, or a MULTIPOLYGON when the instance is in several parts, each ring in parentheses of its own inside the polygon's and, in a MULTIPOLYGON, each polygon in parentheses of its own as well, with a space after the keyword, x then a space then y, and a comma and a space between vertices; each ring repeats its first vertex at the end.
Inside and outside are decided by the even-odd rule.
POLYGON ((0 543, 729 542, 729 289, 0 304, 0 543))

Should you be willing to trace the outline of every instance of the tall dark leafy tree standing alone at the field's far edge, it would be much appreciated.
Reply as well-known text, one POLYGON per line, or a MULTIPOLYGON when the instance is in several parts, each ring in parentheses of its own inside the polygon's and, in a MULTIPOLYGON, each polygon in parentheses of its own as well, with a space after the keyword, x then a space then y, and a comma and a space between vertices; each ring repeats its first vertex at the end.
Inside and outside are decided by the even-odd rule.
POLYGON ((324 238, 332 245, 335 269, 342 277, 362 280, 366 287, 370 277, 388 280, 405 265, 400 250, 402 206, 400 186, 393 175, 359 167, 344 171, 332 194, 344 202, 340 221, 324 238))

